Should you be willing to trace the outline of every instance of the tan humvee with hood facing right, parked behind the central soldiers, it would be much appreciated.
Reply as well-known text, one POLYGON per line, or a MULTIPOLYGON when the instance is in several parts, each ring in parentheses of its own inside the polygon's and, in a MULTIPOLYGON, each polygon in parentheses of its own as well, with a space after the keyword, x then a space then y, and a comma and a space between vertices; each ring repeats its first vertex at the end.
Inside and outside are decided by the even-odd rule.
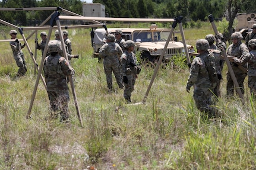
MULTIPOLYGON (((156 25, 151 25, 150 28, 108 28, 108 33, 115 34, 117 29, 122 30, 122 38, 124 40, 135 42, 134 51, 140 52, 141 59, 149 60, 150 62, 155 62, 160 57, 170 34, 170 29, 156 28, 156 25)), ((93 57, 99 57, 99 49, 102 47, 105 37, 105 28, 97 28, 91 33, 93 57)), ((195 52, 193 46, 187 45, 187 47, 188 52, 195 52)), ((169 41, 163 60, 168 60, 172 56, 184 53, 184 44, 177 41, 176 37, 173 37, 169 41)))

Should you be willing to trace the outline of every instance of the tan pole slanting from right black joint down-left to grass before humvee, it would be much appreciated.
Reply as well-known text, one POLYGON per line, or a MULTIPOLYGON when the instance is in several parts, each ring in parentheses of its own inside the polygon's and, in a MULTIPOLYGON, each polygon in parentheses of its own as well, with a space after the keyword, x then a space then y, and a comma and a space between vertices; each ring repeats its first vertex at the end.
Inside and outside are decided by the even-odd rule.
MULTIPOLYGON (((180 18, 182 18, 182 17, 178 17, 177 20, 180 20, 180 18)), ((161 56, 160 56, 160 58, 159 58, 159 60, 158 60, 158 62, 157 62, 156 68, 154 69, 154 74, 153 74, 153 76, 152 76, 152 78, 151 78, 150 84, 148 85, 146 94, 145 94, 144 99, 143 99, 143 103, 146 102, 148 93, 149 93, 150 88, 151 88, 151 86, 152 86, 152 84, 153 84, 153 82, 154 82, 154 78, 156 78, 157 71, 158 71, 158 69, 159 69, 160 64, 162 63, 163 56, 164 56, 164 54, 165 54, 165 52, 166 52, 167 46, 168 46, 168 44, 169 44, 169 41, 170 41, 170 39, 172 38, 172 34, 173 34, 173 31, 174 31, 176 25, 177 25, 177 22, 176 22, 176 19, 175 19, 175 22, 172 24, 172 29, 170 30, 169 37, 168 37, 167 40, 166 40, 165 47, 163 48, 162 53, 161 53, 161 56)))

